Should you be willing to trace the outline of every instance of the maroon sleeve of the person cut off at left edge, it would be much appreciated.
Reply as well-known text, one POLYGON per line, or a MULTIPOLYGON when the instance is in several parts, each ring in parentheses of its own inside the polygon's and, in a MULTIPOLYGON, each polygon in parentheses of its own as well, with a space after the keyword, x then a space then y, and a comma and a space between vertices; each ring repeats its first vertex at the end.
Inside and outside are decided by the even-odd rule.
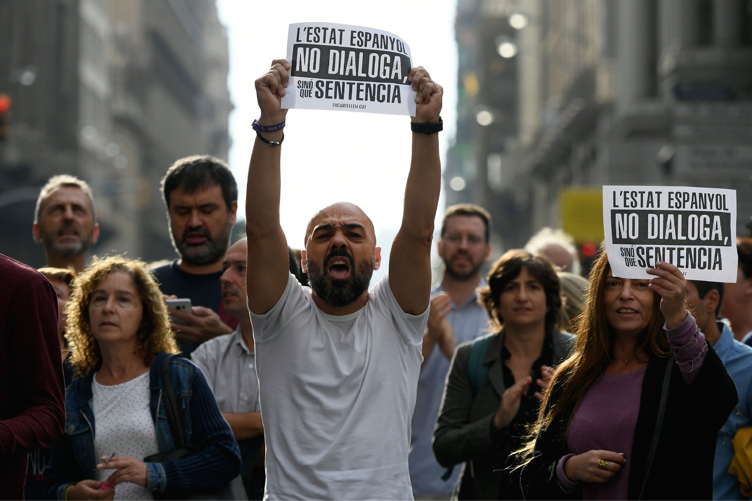
POLYGON ((2 358, 7 364, 2 370, 6 404, 5 419, 0 420, 2 455, 48 448, 65 427, 55 289, 36 270, 16 265, 11 265, 11 273, 2 281, 5 290, 0 292, 0 300, 5 301, 2 358))

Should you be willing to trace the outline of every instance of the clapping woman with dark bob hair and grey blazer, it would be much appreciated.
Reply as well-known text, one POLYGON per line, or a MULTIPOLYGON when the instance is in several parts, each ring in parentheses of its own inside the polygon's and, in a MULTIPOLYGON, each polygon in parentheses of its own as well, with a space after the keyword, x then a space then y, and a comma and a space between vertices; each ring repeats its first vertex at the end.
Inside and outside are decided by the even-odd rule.
POLYGON ((478 300, 493 332, 457 347, 433 451, 447 468, 464 463, 455 497, 519 499, 502 470, 538 415, 551 367, 572 342, 559 330, 559 277, 546 258, 511 250, 493 264, 487 282, 478 300))

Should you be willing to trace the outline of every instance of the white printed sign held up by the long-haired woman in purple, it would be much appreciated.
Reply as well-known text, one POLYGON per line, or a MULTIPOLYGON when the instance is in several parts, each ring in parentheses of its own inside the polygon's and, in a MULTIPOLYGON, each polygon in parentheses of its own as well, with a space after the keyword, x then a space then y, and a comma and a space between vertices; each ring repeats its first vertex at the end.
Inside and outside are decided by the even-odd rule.
POLYGON ((736 282, 736 190, 604 186, 603 229, 614 276, 653 278, 666 261, 687 279, 736 282))

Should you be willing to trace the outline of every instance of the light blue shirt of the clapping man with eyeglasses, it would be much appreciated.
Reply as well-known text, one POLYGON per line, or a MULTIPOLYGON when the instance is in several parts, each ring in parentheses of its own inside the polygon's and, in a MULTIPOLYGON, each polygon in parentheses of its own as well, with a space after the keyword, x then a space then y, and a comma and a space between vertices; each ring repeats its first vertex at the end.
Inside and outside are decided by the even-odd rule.
MULTIPOLYGON (((479 287, 485 287, 485 280, 481 280, 479 287)), ((444 291, 439 285, 431 295, 444 291)), ((457 306, 449 303, 452 309, 447 313, 447 321, 454 332, 454 343, 465 343, 488 332, 488 313, 478 304, 478 291, 464 303, 457 306)), ((428 360, 423 365, 418 379, 415 412, 413 414, 412 439, 408 462, 410 466, 410 481, 413 492, 421 496, 448 496, 459 478, 462 468, 455 468, 450 478, 443 480, 442 475, 447 471, 433 457, 431 439, 436 426, 438 410, 441 408, 441 397, 444 395, 444 380, 449 372, 449 361, 438 343, 433 347, 428 360)))

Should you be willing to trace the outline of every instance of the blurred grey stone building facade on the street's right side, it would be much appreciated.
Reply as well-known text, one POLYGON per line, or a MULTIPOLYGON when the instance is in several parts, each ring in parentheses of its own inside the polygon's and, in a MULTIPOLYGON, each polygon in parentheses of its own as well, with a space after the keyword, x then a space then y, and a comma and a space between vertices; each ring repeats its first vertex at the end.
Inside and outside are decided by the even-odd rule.
POLYGON ((459 0, 456 30, 464 95, 447 203, 487 204, 505 248, 559 226, 562 191, 608 184, 736 189, 737 233, 749 233, 752 2, 459 0), (486 35, 490 23, 499 29, 486 35), (474 55, 481 46, 500 54, 510 26, 517 50, 505 61, 515 68, 517 107, 498 116, 508 121, 499 133, 479 115, 484 87, 497 85, 486 80, 488 61, 462 47, 471 32, 474 55), (472 98, 468 74, 478 78, 472 98), (475 149, 460 161, 463 129, 475 149), (467 177, 473 169, 480 175, 467 177), (455 183, 461 190, 451 186, 456 177, 466 180, 455 183))

